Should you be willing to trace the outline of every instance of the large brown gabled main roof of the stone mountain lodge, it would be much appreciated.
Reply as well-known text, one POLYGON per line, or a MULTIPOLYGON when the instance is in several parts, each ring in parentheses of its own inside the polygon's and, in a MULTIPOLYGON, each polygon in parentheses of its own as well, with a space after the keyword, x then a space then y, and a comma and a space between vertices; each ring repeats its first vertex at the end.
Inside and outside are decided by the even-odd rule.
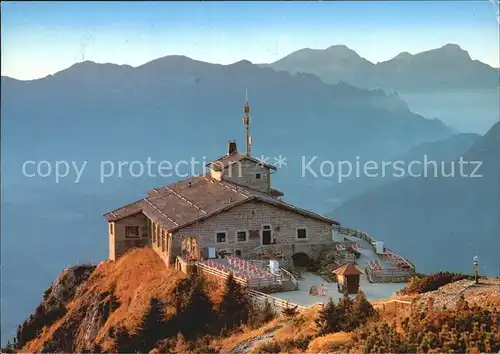
POLYGON ((146 198, 110 211, 104 217, 108 221, 118 221, 142 212, 172 232, 250 200, 272 204, 329 224, 338 224, 325 216, 297 208, 269 194, 227 181, 218 181, 207 175, 155 188, 146 198))

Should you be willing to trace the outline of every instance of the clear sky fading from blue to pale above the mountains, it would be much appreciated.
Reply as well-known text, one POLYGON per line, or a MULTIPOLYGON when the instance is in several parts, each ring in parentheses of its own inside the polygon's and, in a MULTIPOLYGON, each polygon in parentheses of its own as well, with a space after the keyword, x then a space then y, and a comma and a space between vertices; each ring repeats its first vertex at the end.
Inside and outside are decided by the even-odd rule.
POLYGON ((493 1, 9 1, 1 4, 1 69, 30 80, 84 60, 138 66, 177 54, 268 63, 334 44, 376 63, 447 43, 498 67, 493 1))

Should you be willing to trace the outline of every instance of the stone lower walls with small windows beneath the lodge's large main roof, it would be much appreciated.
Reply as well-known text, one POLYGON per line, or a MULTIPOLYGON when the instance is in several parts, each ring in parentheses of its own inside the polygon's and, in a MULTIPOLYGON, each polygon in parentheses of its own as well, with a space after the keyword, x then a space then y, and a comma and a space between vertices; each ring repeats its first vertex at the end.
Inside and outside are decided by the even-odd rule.
POLYGON ((287 245, 283 250, 290 256, 303 252, 317 259, 319 253, 333 242, 332 225, 329 223, 262 201, 243 203, 173 233, 167 232, 143 214, 109 224, 110 259, 116 260, 130 248, 151 245, 167 266, 174 264, 175 258, 181 256, 184 236, 199 237, 200 248, 205 257, 208 257, 208 248, 215 248, 216 252, 239 251, 244 257, 246 253, 263 245, 264 227, 271 231, 271 242, 274 241, 278 247, 280 244, 287 245), (126 226, 139 227, 140 237, 127 238, 126 226), (307 238, 299 239, 298 229, 305 229, 307 238), (225 242, 217 242, 217 233, 221 232, 225 233, 225 242), (245 233, 245 241, 237 239, 238 232, 245 233))

